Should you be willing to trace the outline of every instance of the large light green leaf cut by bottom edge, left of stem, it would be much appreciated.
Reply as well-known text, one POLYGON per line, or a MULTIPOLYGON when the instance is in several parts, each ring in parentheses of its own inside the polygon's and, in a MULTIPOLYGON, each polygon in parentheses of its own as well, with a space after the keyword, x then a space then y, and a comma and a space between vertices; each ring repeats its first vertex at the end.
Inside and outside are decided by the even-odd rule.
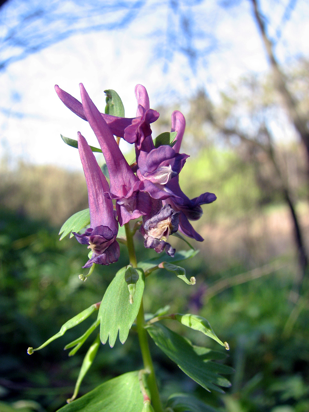
POLYGON ((140 412, 142 409, 143 396, 135 371, 104 382, 58 412, 140 412))

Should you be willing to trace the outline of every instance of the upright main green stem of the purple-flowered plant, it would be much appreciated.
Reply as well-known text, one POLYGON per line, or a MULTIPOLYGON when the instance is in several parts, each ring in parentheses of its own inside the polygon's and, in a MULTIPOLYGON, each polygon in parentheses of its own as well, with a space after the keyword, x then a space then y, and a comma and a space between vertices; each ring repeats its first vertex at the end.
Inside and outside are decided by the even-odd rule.
MULTIPOLYGON (((136 260, 136 254, 135 254, 134 243, 133 243, 133 233, 130 229, 129 223, 125 223, 124 229, 126 231, 126 246, 129 252, 130 263, 133 267, 136 267, 137 260, 136 260)), ((137 333, 138 333, 138 340, 140 343, 140 350, 142 352, 144 368, 149 374, 147 383, 148 383, 148 389, 151 394, 151 404, 155 412, 163 412, 163 408, 162 408, 160 397, 159 397, 157 381, 155 377, 155 370, 154 370, 152 358, 150 355, 150 350, 149 350, 149 345, 148 345, 148 340, 147 340, 147 332, 145 330, 143 299, 140 302, 140 309, 136 317, 136 328, 137 328, 137 333)))

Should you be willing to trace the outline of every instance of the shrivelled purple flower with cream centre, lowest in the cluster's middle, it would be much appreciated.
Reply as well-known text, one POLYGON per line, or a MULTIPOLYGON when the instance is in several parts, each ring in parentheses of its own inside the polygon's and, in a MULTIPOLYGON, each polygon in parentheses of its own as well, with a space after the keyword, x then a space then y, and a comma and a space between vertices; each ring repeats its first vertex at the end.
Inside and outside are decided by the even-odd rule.
POLYGON ((140 232, 144 236, 145 248, 155 249, 157 253, 166 251, 174 256, 175 249, 167 242, 169 235, 178 230, 178 215, 169 204, 162 207, 162 201, 152 201, 152 210, 149 216, 143 216, 143 225, 140 232))

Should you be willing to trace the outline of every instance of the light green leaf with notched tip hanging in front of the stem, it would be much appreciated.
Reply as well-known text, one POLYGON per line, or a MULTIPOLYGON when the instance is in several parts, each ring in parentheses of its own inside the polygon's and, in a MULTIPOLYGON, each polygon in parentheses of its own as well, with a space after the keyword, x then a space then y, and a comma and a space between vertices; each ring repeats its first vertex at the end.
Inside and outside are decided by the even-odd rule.
POLYGON ((133 304, 129 303, 129 290, 124 273, 126 267, 120 269, 115 278, 105 291, 103 296, 98 319, 101 320, 100 339, 103 344, 107 342, 112 348, 116 342, 119 330, 119 340, 121 343, 126 341, 129 335, 129 330, 135 321, 142 300, 145 275, 143 270, 136 269, 139 279, 136 283, 136 291, 133 304))

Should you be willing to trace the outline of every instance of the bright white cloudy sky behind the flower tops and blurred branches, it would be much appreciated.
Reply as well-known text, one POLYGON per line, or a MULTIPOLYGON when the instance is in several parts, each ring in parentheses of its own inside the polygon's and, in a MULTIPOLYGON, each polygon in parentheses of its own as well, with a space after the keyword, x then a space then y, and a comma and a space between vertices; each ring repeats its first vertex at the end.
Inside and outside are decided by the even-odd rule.
MULTIPOLYGON (((280 27, 287 2, 264 1, 262 9, 271 22, 270 34, 280 27)), ((105 89, 122 97, 126 116, 136 112, 134 87, 143 84, 150 104, 185 102, 199 87, 216 100, 219 91, 241 75, 268 70, 262 42, 248 1, 224 9, 204 1, 190 9, 199 30, 211 32, 216 47, 199 59, 192 71, 187 58, 175 52, 162 59, 164 38, 173 16, 154 7, 150 0, 128 28, 74 35, 26 59, 12 63, 0 74, 0 158, 10 164, 18 159, 36 164, 56 164, 80 169, 77 150, 64 145, 60 133, 76 138, 77 131, 89 144, 97 145, 88 124, 71 113, 56 96, 54 84, 79 98, 83 82, 90 97, 103 111, 105 89), (167 70, 166 70, 167 68, 167 70)), ((164 5, 164 2, 162 2, 164 5)), ((283 26, 276 54, 282 63, 295 56, 309 56, 309 4, 298 0, 290 20, 283 26)), ((176 35, 179 33, 176 30, 176 35)), ((203 47, 200 40, 200 46, 203 47)))

